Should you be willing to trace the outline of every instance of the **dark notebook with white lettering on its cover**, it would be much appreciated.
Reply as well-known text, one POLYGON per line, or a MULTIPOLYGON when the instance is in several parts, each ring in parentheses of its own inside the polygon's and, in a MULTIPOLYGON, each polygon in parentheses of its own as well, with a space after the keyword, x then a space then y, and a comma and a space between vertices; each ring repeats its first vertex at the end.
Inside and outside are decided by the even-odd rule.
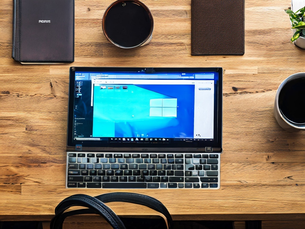
POLYGON ((23 64, 74 61, 74 0, 14 0, 13 54, 23 64))

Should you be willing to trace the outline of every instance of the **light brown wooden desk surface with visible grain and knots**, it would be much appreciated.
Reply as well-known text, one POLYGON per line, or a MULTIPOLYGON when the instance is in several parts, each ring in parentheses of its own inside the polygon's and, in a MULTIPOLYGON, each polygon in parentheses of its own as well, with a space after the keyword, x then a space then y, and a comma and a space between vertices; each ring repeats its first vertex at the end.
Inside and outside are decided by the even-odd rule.
MULTIPOLYGON (((109 192, 65 188, 70 66, 223 67, 220 189, 127 191, 159 199, 174 220, 304 219, 305 132, 286 132, 273 113, 280 83, 305 70, 305 50, 290 43, 290 0, 246 0, 243 56, 191 56, 191 5, 184 0, 144 0, 155 21, 152 41, 117 48, 102 32, 111 2, 75 0, 74 63, 21 65, 11 58, 13 1, 2 0, 0 220, 50 220, 71 194, 109 192)), ((120 215, 151 214, 110 206, 120 215)))

